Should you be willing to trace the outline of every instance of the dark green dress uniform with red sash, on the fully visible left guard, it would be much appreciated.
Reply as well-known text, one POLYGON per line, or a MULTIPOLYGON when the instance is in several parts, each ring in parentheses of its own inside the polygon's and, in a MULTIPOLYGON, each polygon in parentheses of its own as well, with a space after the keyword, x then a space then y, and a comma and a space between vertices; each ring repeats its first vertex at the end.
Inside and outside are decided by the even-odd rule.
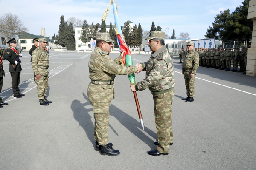
POLYGON ((4 55, 4 58, 10 62, 9 72, 12 77, 12 91, 15 96, 20 94, 19 84, 20 84, 20 71, 22 71, 22 68, 20 65, 20 61, 18 61, 16 68, 13 68, 12 65, 15 64, 15 61, 16 61, 18 55, 19 55, 18 51, 12 47, 9 48, 6 51, 6 54, 4 55))

